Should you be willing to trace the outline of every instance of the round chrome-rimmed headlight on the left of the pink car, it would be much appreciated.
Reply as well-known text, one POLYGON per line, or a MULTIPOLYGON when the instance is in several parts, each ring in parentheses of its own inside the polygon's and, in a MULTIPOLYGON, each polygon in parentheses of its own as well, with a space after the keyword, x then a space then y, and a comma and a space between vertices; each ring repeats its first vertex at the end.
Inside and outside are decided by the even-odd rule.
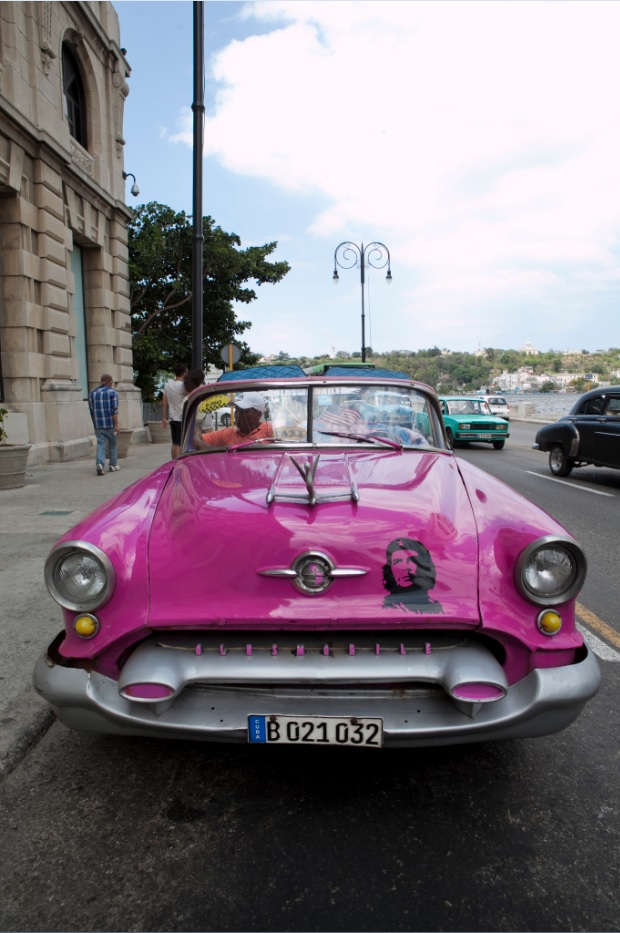
POLYGON ((114 567, 100 548, 65 541, 45 562, 45 583, 65 609, 84 612, 107 603, 114 591, 114 567))

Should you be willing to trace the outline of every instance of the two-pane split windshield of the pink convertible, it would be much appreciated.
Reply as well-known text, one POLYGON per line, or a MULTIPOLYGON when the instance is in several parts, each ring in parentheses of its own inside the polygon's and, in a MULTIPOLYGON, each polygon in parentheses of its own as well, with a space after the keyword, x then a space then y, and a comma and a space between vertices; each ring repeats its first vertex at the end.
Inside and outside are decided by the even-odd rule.
POLYGON ((251 391, 200 390, 187 403, 183 451, 252 444, 369 444, 441 447, 428 398, 416 389, 368 385, 259 385, 251 391), (346 436, 350 435, 350 436, 346 436), (390 443, 387 443, 390 442, 390 443))

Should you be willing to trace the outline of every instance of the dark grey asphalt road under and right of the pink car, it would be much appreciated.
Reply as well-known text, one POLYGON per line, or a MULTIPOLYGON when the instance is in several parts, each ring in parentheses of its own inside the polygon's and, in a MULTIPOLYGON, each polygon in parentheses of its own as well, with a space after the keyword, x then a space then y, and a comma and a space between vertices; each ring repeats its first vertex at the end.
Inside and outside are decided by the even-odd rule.
MULTIPOLYGON (((583 604, 617 626, 598 564, 620 473, 544 480, 520 427, 462 456, 531 488, 588 551, 600 539, 583 604)), ((620 665, 601 664, 577 722, 533 740, 371 752, 54 724, 0 784, 0 929, 617 931, 620 665)))

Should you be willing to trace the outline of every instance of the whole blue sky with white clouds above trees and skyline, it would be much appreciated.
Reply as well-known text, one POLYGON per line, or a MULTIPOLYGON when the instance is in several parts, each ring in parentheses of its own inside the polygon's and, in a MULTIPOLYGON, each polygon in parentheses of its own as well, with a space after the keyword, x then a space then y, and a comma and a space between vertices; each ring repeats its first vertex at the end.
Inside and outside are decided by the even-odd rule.
MULTIPOLYGON (((193 9, 117 0, 125 171, 192 211, 193 9)), ((239 316, 269 354, 620 346, 620 3, 206 2, 203 213, 291 272, 239 316)))

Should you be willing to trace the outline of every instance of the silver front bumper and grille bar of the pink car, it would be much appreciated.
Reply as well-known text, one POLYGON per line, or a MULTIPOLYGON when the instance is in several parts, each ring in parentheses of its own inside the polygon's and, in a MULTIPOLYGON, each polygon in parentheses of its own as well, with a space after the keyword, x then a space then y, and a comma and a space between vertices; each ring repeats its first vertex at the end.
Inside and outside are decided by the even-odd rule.
POLYGON ((534 670, 508 687, 491 653, 466 634, 433 634, 432 646, 423 637, 400 644, 404 634, 381 646, 357 634, 348 648, 325 645, 325 654, 320 635, 306 636, 301 654, 299 645, 280 645, 273 654, 273 636, 264 633, 244 633, 236 641, 229 636, 227 646, 207 636, 198 650, 195 636, 160 636, 136 649, 119 682, 63 667, 45 653, 34 685, 61 722, 78 730, 245 743, 251 715, 370 716, 383 719, 386 747, 559 732, 599 687, 599 665, 590 652, 579 663, 534 670), (459 684, 476 681, 495 685, 501 698, 459 698, 459 684), (123 695, 136 683, 165 684, 170 697, 123 695))

